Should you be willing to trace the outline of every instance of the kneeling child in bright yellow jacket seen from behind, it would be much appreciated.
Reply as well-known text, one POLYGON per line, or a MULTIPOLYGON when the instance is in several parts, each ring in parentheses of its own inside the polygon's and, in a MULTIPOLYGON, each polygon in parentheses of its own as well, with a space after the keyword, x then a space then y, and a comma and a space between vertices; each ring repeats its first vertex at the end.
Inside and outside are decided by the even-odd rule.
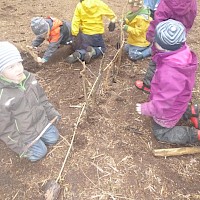
POLYGON ((105 52, 103 16, 111 20, 108 28, 114 31, 116 16, 103 1, 80 0, 77 4, 72 19, 75 52, 66 58, 68 63, 78 59, 89 63, 105 52))

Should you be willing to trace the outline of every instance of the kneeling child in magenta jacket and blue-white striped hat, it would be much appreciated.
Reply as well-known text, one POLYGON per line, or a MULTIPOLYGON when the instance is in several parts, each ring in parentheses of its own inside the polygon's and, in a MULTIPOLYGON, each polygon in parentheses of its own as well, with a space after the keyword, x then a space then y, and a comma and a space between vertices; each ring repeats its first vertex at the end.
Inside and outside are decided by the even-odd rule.
POLYGON ((157 25, 157 52, 153 56, 157 68, 151 83, 150 101, 136 104, 139 114, 153 117, 155 137, 176 144, 200 140, 198 106, 188 107, 195 83, 197 57, 185 40, 186 30, 181 22, 169 19, 157 25), (192 117, 195 128, 176 126, 181 117, 192 117))

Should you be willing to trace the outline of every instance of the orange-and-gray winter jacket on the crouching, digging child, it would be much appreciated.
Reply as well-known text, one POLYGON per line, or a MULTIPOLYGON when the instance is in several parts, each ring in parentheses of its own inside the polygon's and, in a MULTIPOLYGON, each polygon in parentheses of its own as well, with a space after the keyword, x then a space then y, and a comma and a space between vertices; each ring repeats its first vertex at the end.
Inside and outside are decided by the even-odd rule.
MULTIPOLYGON (((59 19, 48 17, 45 19, 50 26, 49 46, 44 53, 44 60, 48 61, 49 58, 55 53, 60 44, 66 44, 71 38, 71 24, 69 22, 62 22, 59 19)), ((38 47, 44 42, 44 38, 37 36, 32 42, 32 46, 38 47)))

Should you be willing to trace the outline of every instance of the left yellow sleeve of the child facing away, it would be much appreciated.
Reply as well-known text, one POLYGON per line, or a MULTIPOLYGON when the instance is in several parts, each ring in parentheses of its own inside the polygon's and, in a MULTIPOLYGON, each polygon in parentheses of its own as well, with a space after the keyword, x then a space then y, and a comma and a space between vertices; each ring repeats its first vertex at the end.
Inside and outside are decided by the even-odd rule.
POLYGON ((74 16, 72 18, 72 36, 77 36, 80 29, 80 9, 79 9, 80 3, 76 6, 76 9, 74 11, 74 16))

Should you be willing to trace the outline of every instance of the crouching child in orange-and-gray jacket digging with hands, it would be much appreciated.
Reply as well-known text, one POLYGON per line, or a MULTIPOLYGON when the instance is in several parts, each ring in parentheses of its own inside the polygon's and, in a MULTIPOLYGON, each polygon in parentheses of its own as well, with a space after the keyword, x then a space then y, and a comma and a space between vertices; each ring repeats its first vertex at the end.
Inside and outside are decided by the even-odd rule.
POLYGON ((39 63, 45 63, 56 52, 61 44, 70 44, 71 24, 53 17, 34 17, 31 20, 31 29, 37 36, 32 42, 32 48, 37 48, 47 40, 49 46, 43 58, 38 57, 39 63))

